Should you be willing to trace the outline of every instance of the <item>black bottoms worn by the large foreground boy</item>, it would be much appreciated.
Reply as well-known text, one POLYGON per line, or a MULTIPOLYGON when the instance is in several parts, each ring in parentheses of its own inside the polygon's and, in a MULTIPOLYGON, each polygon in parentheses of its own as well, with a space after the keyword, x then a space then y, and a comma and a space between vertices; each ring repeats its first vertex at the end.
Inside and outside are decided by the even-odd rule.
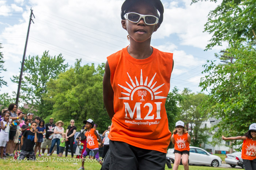
POLYGON ((110 170, 165 169, 166 153, 147 150, 125 142, 109 141, 110 170))

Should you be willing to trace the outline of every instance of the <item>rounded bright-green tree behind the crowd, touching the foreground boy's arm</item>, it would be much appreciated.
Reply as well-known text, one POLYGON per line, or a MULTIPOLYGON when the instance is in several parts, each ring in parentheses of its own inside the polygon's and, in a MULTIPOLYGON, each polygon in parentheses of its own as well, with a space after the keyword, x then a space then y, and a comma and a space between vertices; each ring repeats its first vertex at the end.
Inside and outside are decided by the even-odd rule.
POLYGON ((103 104, 104 64, 95 69, 94 64, 81 66, 80 63, 77 60, 74 67, 47 83, 44 99, 53 105, 50 116, 64 121, 65 127, 71 119, 77 127, 82 127, 83 120, 91 118, 99 125, 98 130, 104 131, 111 124, 103 104))

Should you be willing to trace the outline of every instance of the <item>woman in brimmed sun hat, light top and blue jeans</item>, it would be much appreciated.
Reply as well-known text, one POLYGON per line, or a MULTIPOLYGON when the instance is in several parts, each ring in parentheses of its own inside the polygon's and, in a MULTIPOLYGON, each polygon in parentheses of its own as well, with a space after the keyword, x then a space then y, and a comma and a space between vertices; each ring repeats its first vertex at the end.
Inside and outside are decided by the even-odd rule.
POLYGON ((52 138, 52 146, 50 148, 50 154, 52 155, 52 151, 54 148, 55 143, 57 143, 57 156, 59 157, 59 147, 60 147, 60 138, 62 133, 64 133, 64 123, 59 120, 58 122, 55 123, 54 131, 53 131, 53 138, 52 138))

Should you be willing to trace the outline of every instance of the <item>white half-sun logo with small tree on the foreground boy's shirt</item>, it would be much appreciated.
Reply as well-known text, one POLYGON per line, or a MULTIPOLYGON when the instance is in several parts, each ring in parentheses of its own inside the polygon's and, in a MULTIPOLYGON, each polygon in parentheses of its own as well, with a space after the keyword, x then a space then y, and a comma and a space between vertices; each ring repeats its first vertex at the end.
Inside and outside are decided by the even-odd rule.
POLYGON ((155 73, 155 75, 153 76, 153 78, 149 82, 148 82, 148 77, 146 77, 145 81, 143 82, 142 70, 140 70, 140 80, 139 81, 138 81, 136 76, 135 76, 135 81, 134 81, 131 78, 131 76, 129 75, 129 73, 127 72, 127 75, 130 79, 130 83, 128 83, 128 82, 125 82, 125 83, 128 85, 128 87, 122 86, 120 84, 118 84, 118 86, 123 88, 128 93, 127 92, 121 92, 121 94, 124 94, 126 97, 120 97, 119 99, 133 100, 133 95, 135 94, 135 92, 137 90, 138 90, 138 92, 137 92, 138 96, 141 97, 141 99, 140 99, 141 102, 145 101, 145 99, 143 99, 143 97, 147 96, 147 92, 150 93, 151 100, 153 100, 153 99, 165 99, 166 98, 165 96, 157 96, 157 94, 160 94, 161 92, 163 92, 163 91, 157 91, 157 90, 159 88, 161 88, 165 83, 155 87, 155 85, 157 84, 157 81, 154 82, 156 74, 157 73, 155 73))

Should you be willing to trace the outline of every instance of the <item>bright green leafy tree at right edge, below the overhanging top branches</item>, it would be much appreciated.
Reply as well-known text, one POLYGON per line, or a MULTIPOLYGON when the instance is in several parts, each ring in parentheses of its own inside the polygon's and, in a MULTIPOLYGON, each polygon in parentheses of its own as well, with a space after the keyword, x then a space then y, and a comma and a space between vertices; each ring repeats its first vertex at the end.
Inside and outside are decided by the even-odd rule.
MULTIPOLYGON (((206 64, 203 90, 210 88, 204 110, 221 121, 215 126, 221 135, 242 135, 251 123, 256 122, 256 50, 251 46, 230 48, 234 63, 206 64)), ((209 90, 208 90, 209 91, 209 90)))

